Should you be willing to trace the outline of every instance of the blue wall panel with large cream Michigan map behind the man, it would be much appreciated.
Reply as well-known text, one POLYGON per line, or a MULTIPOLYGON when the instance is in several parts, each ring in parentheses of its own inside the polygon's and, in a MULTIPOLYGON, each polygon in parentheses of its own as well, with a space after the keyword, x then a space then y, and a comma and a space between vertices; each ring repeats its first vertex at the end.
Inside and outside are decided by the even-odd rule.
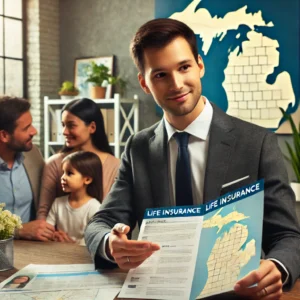
MULTIPOLYGON (((156 0, 155 17, 195 32, 203 95, 232 116, 278 130, 299 107, 299 0, 156 0)), ((289 127, 279 130, 288 133, 289 127)))

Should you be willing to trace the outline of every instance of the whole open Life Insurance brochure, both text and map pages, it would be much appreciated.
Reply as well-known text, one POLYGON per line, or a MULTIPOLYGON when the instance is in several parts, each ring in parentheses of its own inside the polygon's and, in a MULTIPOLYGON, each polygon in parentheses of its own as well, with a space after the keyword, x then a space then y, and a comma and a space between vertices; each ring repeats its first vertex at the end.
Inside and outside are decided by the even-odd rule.
POLYGON ((263 185, 199 206, 147 209, 139 240, 161 249, 129 271, 119 297, 195 300, 233 291, 259 267, 263 185))

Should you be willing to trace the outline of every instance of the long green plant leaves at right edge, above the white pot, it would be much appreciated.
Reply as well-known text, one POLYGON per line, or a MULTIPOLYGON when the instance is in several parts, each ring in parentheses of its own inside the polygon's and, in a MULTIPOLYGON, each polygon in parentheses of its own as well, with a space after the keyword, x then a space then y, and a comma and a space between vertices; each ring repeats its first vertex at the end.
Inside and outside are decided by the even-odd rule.
POLYGON ((283 108, 279 107, 279 109, 282 112, 285 119, 287 119, 291 125, 294 142, 294 147, 292 147, 292 145, 290 145, 288 142, 285 142, 289 152, 289 156, 284 155, 284 157, 291 163, 296 175, 297 182, 300 183, 300 123, 297 128, 291 115, 287 114, 283 110, 283 108))

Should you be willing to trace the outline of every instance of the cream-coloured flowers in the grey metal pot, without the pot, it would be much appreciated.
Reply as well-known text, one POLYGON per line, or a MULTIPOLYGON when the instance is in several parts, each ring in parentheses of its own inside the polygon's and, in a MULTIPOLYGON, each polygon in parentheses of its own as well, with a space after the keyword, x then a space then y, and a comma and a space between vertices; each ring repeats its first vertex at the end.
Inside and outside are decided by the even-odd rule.
POLYGON ((4 207, 5 204, 0 203, 0 240, 12 237, 16 228, 22 228, 21 218, 9 210, 3 210, 4 207))

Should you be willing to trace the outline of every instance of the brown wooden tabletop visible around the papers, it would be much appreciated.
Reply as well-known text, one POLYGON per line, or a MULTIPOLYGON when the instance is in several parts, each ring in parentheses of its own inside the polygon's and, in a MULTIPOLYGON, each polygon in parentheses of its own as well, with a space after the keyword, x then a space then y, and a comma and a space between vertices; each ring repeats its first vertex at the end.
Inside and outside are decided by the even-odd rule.
MULTIPOLYGON (((55 242, 14 241, 15 269, 0 272, 0 282, 28 264, 89 264, 92 259, 86 247, 55 242)), ((283 300, 300 300, 300 279, 283 300)))

